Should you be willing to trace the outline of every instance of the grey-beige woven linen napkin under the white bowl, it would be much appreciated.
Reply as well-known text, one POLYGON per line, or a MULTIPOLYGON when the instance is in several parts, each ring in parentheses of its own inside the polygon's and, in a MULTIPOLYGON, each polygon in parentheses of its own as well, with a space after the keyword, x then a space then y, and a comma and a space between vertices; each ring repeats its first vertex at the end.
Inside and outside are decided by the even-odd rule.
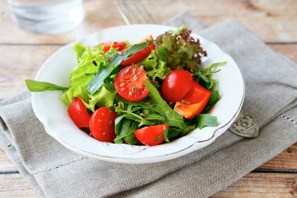
POLYGON ((166 24, 187 24, 234 58, 246 81, 244 107, 255 115, 259 136, 244 139, 226 131, 209 146, 176 159, 106 162, 74 153, 51 138, 33 112, 30 93, 24 92, 0 101, 0 147, 40 197, 204 198, 297 142, 295 63, 236 20, 205 28, 183 13, 166 24))

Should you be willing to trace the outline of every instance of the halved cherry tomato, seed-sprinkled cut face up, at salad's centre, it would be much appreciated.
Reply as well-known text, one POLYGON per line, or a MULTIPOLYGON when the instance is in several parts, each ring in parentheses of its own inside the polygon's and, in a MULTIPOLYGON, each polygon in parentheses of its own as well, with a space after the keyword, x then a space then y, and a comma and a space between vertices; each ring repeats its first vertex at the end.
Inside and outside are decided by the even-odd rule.
POLYGON ((140 101, 149 94, 145 79, 148 79, 146 72, 142 71, 139 66, 131 65, 117 73, 114 87, 123 99, 140 101))

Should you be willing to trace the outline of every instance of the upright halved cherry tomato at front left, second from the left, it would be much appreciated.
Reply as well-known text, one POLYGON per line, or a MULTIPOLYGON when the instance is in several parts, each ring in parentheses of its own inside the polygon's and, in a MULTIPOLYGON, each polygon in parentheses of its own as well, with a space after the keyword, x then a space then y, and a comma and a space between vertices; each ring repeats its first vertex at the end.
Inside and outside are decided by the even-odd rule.
POLYGON ((112 143, 116 138, 114 120, 117 114, 106 107, 97 109, 90 118, 90 131, 96 140, 112 143))

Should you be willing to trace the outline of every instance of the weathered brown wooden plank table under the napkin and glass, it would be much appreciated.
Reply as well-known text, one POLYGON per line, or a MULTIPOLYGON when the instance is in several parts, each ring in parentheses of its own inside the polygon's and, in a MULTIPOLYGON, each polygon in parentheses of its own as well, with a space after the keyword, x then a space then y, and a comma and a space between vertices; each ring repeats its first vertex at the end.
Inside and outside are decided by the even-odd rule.
MULTIPOLYGON (((207 25, 236 18, 266 44, 297 62, 297 0, 143 0, 157 23, 181 11, 207 25), (163 9, 166 7, 166 11, 163 9)), ((86 17, 73 31, 37 35, 14 26, 0 0, 0 99, 26 90, 49 56, 74 39, 125 25, 111 0, 84 0, 86 17)), ((0 197, 38 198, 0 150, 0 197)), ((284 150, 212 198, 297 198, 297 144, 284 150)))

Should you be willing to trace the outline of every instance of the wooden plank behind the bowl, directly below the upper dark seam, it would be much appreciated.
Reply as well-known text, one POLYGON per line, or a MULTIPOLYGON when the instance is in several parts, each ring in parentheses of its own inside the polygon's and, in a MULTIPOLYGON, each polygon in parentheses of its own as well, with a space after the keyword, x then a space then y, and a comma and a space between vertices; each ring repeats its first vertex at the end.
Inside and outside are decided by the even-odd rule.
MULTIPOLYGON (((269 45, 297 62, 297 44, 269 45)), ((26 90, 25 79, 34 79, 40 66, 62 46, 0 46, 0 99, 26 90), (38 54, 38 55, 36 55, 38 54)))

